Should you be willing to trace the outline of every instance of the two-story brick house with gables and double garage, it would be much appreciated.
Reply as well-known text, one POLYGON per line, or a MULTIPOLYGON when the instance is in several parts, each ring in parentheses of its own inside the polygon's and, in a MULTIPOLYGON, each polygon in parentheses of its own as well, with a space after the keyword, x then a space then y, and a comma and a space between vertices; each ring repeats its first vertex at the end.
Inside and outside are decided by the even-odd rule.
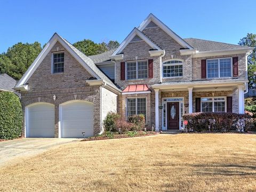
POLYGON ((109 111, 181 130, 193 112, 244 113, 252 47, 182 39, 149 14, 116 50, 86 57, 54 34, 17 84, 26 137, 103 131, 109 111), (114 84, 114 83, 115 84, 114 84))

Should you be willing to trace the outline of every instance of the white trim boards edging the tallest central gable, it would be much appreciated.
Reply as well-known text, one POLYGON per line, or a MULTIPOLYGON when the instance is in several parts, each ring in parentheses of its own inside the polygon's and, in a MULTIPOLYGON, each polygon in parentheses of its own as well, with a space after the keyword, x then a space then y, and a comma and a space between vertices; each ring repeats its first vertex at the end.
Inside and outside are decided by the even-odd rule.
POLYGON ((156 25, 158 27, 160 27, 161 29, 163 29, 165 31, 165 33, 167 33, 169 36, 171 36, 175 41, 177 41, 180 45, 182 45, 185 48, 188 49, 194 49, 193 47, 191 47, 187 42, 185 42, 180 36, 178 36, 177 34, 175 34, 169 27, 167 27, 162 21, 160 21, 159 19, 157 19, 155 17, 155 15, 153 15, 152 13, 150 13, 148 15, 148 17, 140 24, 140 26, 138 27, 138 29, 140 31, 142 31, 143 29, 145 29, 145 27, 148 25, 148 23, 150 23, 150 21, 153 21, 154 23, 156 23, 156 25))

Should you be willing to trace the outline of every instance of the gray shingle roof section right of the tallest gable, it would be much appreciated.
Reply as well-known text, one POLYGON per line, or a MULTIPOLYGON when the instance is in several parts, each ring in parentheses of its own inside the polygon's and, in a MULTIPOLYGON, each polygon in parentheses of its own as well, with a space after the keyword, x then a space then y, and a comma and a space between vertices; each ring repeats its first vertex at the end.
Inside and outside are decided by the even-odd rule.
POLYGON ((185 38, 184 40, 198 51, 218 51, 227 49, 239 49, 245 47, 241 45, 214 42, 197 38, 185 38))

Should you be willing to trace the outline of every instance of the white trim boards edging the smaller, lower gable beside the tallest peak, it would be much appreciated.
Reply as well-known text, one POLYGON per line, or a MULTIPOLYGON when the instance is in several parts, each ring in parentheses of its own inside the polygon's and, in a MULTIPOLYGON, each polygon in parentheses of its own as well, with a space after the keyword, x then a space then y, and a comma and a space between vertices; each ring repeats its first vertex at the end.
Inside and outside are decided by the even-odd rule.
POLYGON ((140 30, 134 28, 111 56, 121 53, 121 51, 123 51, 123 49, 131 42, 135 35, 138 35, 140 38, 142 38, 153 49, 161 50, 160 47, 158 47, 155 43, 150 41, 150 39, 147 36, 145 36, 140 30))

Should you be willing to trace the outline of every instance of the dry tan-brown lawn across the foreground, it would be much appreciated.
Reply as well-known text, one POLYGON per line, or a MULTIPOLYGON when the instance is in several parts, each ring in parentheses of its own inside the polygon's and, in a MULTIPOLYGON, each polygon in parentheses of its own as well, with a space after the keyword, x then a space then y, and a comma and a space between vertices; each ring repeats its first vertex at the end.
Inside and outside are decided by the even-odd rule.
POLYGON ((0 169, 1 191, 256 191, 255 134, 62 145, 0 169))

